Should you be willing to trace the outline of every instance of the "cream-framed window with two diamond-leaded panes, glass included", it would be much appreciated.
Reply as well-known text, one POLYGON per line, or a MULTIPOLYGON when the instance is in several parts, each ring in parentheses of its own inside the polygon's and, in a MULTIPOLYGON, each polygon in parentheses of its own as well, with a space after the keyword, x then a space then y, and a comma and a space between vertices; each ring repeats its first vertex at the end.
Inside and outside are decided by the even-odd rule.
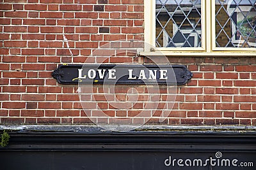
POLYGON ((256 56, 256 0, 145 0, 145 41, 147 55, 256 56))

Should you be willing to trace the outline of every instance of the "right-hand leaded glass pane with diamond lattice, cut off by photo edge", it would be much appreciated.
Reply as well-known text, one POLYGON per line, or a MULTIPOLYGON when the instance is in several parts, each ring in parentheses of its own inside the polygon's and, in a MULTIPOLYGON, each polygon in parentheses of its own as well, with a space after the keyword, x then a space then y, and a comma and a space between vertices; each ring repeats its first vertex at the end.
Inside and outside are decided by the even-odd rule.
POLYGON ((216 0, 217 47, 256 48, 256 0, 216 0))

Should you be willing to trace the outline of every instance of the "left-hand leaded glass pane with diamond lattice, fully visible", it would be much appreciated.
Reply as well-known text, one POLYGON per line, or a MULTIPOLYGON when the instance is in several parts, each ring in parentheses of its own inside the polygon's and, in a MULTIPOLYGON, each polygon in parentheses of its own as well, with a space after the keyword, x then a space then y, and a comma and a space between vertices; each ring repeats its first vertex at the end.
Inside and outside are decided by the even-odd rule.
POLYGON ((156 0, 156 46, 201 47, 201 0, 156 0))

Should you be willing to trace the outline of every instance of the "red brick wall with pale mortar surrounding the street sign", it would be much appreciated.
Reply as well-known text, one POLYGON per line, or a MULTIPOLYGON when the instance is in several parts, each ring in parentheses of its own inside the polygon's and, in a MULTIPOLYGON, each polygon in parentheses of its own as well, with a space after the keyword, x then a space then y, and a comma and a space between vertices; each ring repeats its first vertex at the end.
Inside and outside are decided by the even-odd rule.
MULTIPOLYGON (((95 49, 109 41, 143 40, 143 1, 1 1, 1 125, 92 124, 86 116, 88 113, 97 115, 102 110, 110 117, 134 117, 148 103, 147 111, 152 117, 129 121, 149 119, 147 124, 161 125, 256 125, 256 59, 253 57, 170 57, 172 64, 185 64, 194 74, 187 85, 175 89, 175 103, 170 99, 173 87, 160 87, 160 94, 154 95, 150 87, 120 85, 115 92, 108 90, 107 100, 102 86, 95 85, 93 94, 88 93, 85 109, 88 113, 85 113, 77 85, 56 83, 52 71, 58 64, 83 64, 85 60, 151 63, 147 57, 128 52, 90 57, 95 49), (127 94, 131 88, 139 94, 135 104, 125 103, 131 101, 127 94), (115 107, 113 103, 121 106, 115 107), (127 109, 124 104, 131 106, 127 109), (169 107, 172 105, 173 110, 169 107), (164 111, 172 112, 160 123, 164 111)), ((94 121, 109 120, 95 117, 94 121)))

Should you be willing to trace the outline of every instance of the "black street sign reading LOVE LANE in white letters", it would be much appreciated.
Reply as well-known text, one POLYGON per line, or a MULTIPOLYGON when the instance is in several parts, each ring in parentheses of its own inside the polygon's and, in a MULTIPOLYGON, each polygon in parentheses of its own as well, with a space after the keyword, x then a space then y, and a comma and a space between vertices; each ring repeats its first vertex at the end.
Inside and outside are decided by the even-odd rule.
POLYGON ((193 74, 183 65, 64 64, 53 71, 52 76, 61 84, 184 85, 193 74))

